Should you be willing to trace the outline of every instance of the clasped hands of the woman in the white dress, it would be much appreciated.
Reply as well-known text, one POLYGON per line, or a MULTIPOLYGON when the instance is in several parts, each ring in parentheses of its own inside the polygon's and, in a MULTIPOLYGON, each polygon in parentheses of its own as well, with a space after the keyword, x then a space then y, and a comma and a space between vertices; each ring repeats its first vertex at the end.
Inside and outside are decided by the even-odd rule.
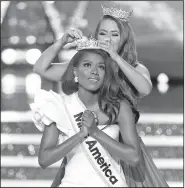
POLYGON ((82 127, 83 126, 88 128, 89 135, 96 132, 98 129, 95 115, 90 110, 86 110, 82 115, 82 127))

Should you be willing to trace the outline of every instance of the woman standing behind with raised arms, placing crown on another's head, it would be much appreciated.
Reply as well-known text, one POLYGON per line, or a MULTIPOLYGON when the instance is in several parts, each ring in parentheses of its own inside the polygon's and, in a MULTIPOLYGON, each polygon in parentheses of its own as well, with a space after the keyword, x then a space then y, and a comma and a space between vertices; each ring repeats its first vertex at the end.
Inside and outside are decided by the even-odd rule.
MULTIPOLYGON (((149 71, 137 60, 134 35, 128 22, 131 12, 103 6, 102 9, 104 16, 96 28, 94 37, 102 41, 102 48, 117 63, 119 75, 126 79, 128 89, 131 88, 133 93, 133 101, 137 103, 137 99, 151 92, 152 83, 149 71)), ((60 40, 43 52, 34 65, 34 71, 48 80, 60 82, 69 63, 52 64, 52 61, 61 48, 82 37, 79 29, 69 29, 60 40)))

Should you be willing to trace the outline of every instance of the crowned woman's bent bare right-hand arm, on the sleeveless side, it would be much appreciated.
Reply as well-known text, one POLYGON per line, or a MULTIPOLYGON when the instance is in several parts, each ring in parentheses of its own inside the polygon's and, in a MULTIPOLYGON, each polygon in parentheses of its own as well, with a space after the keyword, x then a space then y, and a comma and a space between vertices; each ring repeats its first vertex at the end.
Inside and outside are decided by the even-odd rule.
POLYGON ((112 139, 99 129, 96 129, 91 136, 102 144, 110 154, 132 166, 136 166, 141 160, 139 140, 132 109, 129 104, 123 101, 120 106, 118 123, 124 144, 112 139))

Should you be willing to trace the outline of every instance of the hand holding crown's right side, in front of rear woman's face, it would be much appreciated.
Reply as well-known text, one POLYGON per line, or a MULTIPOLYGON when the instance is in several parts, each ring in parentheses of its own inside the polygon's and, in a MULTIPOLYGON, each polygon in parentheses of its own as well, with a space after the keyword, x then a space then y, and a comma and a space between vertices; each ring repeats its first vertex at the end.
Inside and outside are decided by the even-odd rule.
POLYGON ((99 46, 102 50, 105 50, 114 61, 116 61, 116 58, 119 55, 114 47, 114 44, 111 41, 106 41, 106 42, 100 41, 99 46))

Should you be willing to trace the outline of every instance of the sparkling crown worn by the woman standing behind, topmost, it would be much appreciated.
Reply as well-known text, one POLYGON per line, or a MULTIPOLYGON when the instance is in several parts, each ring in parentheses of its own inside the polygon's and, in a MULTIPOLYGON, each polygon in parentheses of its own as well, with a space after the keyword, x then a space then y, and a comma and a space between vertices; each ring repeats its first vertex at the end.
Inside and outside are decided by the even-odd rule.
POLYGON ((109 15, 115 18, 119 18, 120 20, 127 22, 129 20, 129 17, 131 16, 133 10, 126 12, 121 9, 117 9, 115 5, 112 8, 107 8, 101 5, 103 9, 103 15, 109 15))

